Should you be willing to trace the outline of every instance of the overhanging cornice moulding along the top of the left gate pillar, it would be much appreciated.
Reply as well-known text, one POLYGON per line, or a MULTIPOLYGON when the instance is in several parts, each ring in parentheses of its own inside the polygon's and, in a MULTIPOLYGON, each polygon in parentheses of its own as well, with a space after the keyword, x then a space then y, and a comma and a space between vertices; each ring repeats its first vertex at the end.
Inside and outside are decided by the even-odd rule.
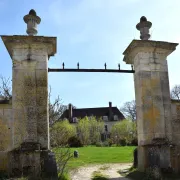
POLYGON ((11 58, 13 54, 13 48, 18 45, 44 45, 48 47, 48 56, 54 56, 56 53, 56 37, 44 37, 44 36, 1 36, 6 49, 8 50, 11 58))

